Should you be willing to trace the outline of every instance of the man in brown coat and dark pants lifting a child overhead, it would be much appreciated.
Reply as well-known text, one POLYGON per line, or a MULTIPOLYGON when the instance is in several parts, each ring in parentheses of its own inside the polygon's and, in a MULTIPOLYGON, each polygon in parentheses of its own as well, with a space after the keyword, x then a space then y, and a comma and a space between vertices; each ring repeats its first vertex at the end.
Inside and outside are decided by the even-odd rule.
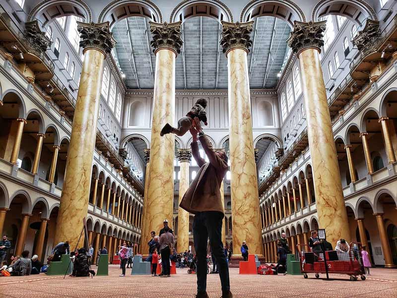
POLYGON ((207 298, 207 240, 215 256, 222 286, 222 298, 231 298, 229 268, 223 251, 222 221, 224 209, 220 195, 220 185, 228 166, 225 152, 215 152, 202 131, 198 118, 190 129, 192 134, 192 153, 200 166, 196 178, 186 191, 180 207, 195 214, 193 239, 197 258, 197 298, 207 298), (199 137, 197 136, 199 134, 199 137), (208 157, 205 162, 199 154, 198 140, 208 157))

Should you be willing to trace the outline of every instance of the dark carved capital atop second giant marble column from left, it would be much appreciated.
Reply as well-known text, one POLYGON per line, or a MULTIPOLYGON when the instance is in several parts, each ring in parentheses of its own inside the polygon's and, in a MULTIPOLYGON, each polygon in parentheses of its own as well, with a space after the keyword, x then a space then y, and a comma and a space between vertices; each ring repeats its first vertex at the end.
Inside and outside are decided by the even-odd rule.
POLYGON ((156 54, 160 49, 169 49, 177 56, 181 53, 183 40, 181 38, 181 25, 182 21, 175 23, 155 23, 149 22, 150 32, 153 40, 150 45, 153 48, 153 53, 156 54))

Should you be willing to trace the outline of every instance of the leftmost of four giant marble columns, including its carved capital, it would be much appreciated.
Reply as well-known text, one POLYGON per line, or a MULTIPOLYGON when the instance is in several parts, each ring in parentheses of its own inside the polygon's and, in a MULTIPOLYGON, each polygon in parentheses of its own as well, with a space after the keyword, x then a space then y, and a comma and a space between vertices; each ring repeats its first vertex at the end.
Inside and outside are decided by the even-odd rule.
MULTIPOLYGON (((77 30, 84 58, 54 239, 54 243, 68 240, 70 247, 76 246, 82 220, 87 216, 103 63, 116 44, 109 32, 109 22, 77 22, 77 30)), ((84 243, 84 239, 80 241, 84 243)))

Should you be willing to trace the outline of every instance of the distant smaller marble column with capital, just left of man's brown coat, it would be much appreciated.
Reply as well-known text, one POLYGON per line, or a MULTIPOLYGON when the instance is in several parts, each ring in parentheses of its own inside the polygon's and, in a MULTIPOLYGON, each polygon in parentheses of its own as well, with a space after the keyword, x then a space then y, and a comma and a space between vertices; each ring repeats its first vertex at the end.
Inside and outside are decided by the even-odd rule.
MULTIPOLYGON (((191 159, 191 149, 178 149, 180 165, 178 206, 189 188, 189 162, 191 159)), ((189 212, 178 207, 178 251, 185 251, 186 249, 189 249, 189 212)))

